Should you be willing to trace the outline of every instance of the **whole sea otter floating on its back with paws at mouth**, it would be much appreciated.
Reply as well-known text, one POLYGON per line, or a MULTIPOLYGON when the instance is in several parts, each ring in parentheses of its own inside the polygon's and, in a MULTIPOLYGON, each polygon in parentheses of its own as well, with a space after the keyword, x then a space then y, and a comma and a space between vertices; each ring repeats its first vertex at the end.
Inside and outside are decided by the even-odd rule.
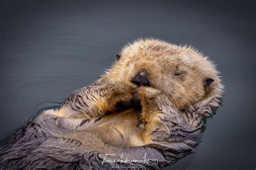
POLYGON ((214 64, 192 47, 139 39, 91 86, 5 141, 0 165, 161 168, 198 146, 222 94, 214 64))

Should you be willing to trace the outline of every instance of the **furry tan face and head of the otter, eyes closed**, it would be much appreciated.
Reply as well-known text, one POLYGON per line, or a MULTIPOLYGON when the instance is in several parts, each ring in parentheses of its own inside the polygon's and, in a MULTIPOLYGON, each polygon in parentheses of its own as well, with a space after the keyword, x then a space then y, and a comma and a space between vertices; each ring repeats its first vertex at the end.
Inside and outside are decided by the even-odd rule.
POLYGON ((152 39, 126 46, 106 79, 156 88, 179 109, 221 93, 218 72, 206 57, 190 47, 152 39))

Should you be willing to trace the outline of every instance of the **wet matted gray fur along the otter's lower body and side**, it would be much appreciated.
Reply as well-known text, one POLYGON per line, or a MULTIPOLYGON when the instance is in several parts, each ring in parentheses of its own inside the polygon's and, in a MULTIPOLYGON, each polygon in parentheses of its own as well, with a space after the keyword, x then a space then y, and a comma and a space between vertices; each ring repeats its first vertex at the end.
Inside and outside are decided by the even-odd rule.
MULTIPOLYGON (((80 141, 65 137, 67 133, 73 134, 78 131, 86 134, 86 128, 88 128, 89 123, 84 123, 83 120, 72 121, 71 123, 67 118, 39 114, 1 145, 0 167, 1 169, 163 168, 184 158, 187 154, 195 152, 193 148, 198 146, 200 142, 201 133, 204 129, 204 119, 211 116, 213 110, 218 107, 219 99, 215 98, 208 103, 207 107, 191 107, 188 109, 193 114, 204 115, 201 116, 200 123, 198 124, 199 129, 197 131, 185 131, 183 130, 183 125, 180 125, 179 129, 174 131, 169 126, 168 128, 172 132, 169 137, 169 143, 172 145, 147 145, 124 148, 104 145, 104 148, 99 148, 98 150, 91 150, 90 147, 80 141), (186 144, 172 143, 173 140, 183 141, 186 144), (114 164, 103 162, 104 155, 100 154, 106 153, 114 153, 115 155, 109 155, 107 158, 117 160, 117 162, 114 164), (144 159, 145 154, 146 159, 144 159), (123 160, 129 158, 130 160, 142 161, 120 162, 118 160, 121 155, 123 155, 123 160)), ((188 113, 183 112, 180 114, 188 113)), ((90 138, 87 141, 97 145, 97 137, 90 138)))

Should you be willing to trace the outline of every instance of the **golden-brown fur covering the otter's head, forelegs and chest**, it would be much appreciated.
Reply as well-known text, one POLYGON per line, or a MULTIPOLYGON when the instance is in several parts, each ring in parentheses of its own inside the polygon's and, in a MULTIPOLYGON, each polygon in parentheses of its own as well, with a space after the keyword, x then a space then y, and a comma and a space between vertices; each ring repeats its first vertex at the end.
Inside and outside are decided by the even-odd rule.
MULTIPOLYGON (((222 88, 213 63, 193 48, 140 39, 124 47, 120 59, 98 81, 75 91, 61 108, 43 114, 91 121, 100 115, 100 122, 87 131, 100 134, 103 143, 114 146, 160 144, 153 140, 156 131, 170 136, 166 122, 161 121, 165 114, 191 106, 202 108, 221 97, 222 88), (151 87, 131 82, 142 69, 147 71, 151 87), (208 78, 214 81, 206 84, 208 78), (134 98, 139 98, 141 110, 120 111, 118 103, 134 98), (109 134, 117 137, 109 138, 109 134)), ((191 124, 190 128, 195 127, 191 124)), ((76 138, 83 140, 83 135, 76 138)))

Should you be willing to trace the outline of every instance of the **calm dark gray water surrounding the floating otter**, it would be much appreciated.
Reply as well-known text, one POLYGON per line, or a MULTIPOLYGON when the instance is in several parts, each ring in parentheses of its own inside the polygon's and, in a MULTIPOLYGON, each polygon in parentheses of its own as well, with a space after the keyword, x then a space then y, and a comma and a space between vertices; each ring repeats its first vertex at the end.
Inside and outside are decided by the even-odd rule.
POLYGON ((255 1, 1 1, 1 141, 89 85, 126 42, 198 48, 226 84, 188 169, 255 169, 255 1))

